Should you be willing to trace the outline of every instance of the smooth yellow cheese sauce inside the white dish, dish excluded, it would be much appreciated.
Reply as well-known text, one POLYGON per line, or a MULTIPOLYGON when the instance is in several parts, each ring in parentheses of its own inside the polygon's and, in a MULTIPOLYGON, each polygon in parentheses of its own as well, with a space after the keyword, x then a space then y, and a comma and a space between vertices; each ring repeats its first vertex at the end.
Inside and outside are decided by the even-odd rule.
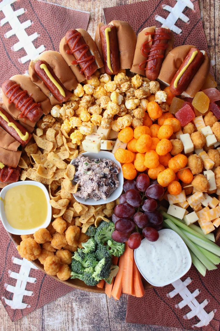
POLYGON ((4 198, 8 223, 18 230, 30 230, 44 224, 47 218, 47 198, 36 185, 10 188, 4 198))

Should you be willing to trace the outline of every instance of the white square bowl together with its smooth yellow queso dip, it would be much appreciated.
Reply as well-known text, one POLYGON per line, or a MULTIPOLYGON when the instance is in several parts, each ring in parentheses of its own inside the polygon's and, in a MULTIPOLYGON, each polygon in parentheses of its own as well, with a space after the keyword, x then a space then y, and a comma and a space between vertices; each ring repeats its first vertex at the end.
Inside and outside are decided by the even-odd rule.
POLYGON ((27 180, 7 185, 0 192, 0 217, 5 229, 17 235, 46 228, 52 209, 46 187, 27 180))

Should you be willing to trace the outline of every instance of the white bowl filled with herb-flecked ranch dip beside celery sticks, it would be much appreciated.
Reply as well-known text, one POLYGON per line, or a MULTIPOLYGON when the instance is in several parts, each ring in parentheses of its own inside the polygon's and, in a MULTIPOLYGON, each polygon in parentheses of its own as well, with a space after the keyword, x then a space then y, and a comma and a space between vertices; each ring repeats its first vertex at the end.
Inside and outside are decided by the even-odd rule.
POLYGON ((144 238, 134 251, 141 275, 153 286, 165 286, 184 276, 192 264, 189 250, 171 229, 162 229, 157 241, 144 238))

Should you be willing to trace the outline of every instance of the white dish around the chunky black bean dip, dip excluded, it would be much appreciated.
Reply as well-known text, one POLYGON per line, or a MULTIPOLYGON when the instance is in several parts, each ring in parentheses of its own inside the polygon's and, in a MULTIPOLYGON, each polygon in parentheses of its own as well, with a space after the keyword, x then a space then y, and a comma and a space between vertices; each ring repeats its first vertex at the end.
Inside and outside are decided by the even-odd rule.
MULTIPOLYGON (((123 177, 123 173, 122 173, 121 164, 120 164, 120 162, 115 160, 114 154, 112 154, 111 152, 107 152, 107 151, 100 151, 99 153, 84 152, 84 153, 81 153, 80 155, 89 157, 89 159, 97 159, 97 158, 110 159, 114 163, 116 163, 116 165, 118 165, 120 168, 120 172, 117 174, 117 178, 119 180, 119 186, 116 188, 116 190, 114 190, 114 192, 111 193, 110 197, 107 200, 104 200, 104 199, 99 199, 97 201, 95 201, 94 199, 85 200, 84 198, 80 198, 80 197, 76 196, 75 194, 73 194, 74 198, 83 205, 92 205, 92 206, 104 205, 108 202, 112 202, 112 201, 116 200, 117 198, 119 198, 123 191, 124 177, 123 177)), ((71 161, 71 164, 74 165, 74 163, 75 163, 75 159, 71 161)))

